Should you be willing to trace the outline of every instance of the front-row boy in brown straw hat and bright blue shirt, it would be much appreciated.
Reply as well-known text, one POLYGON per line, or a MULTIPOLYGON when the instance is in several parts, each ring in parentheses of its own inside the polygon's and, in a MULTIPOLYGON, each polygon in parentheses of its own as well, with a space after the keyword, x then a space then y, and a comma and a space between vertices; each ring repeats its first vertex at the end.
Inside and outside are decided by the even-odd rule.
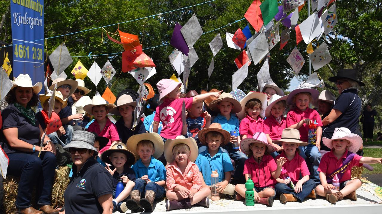
POLYGON ((209 128, 199 131, 199 140, 202 144, 207 145, 208 149, 199 153, 195 163, 199 167, 206 185, 211 185, 211 172, 217 171, 219 174, 217 191, 234 195, 235 185, 229 183, 233 166, 228 154, 220 149, 220 146, 228 144, 230 139, 230 133, 222 129, 219 123, 212 123, 209 128))

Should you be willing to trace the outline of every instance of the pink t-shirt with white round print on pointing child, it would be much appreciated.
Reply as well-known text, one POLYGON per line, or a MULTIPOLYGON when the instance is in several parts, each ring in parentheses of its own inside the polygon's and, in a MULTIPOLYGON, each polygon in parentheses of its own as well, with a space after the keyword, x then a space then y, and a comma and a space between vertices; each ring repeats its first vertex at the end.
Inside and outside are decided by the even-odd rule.
POLYGON ((160 136, 167 139, 175 139, 181 135, 182 123, 182 104, 185 101, 186 109, 191 108, 193 97, 168 99, 164 98, 163 103, 157 106, 154 121, 162 121, 163 127, 160 136))

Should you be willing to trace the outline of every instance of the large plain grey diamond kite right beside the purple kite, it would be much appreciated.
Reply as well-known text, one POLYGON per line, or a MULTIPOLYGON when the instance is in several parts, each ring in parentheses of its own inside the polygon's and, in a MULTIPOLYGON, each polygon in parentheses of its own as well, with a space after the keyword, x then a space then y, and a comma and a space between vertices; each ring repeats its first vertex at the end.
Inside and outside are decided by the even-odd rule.
POLYGON ((200 26, 199 21, 197 21, 195 14, 192 15, 180 31, 182 32, 189 48, 194 46, 195 42, 203 34, 202 27, 200 26))

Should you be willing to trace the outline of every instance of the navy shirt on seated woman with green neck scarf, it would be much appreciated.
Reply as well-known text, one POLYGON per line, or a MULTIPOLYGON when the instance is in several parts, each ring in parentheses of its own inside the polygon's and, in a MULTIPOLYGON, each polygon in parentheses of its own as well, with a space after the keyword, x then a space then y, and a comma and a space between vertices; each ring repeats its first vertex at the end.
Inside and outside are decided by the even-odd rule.
MULTIPOLYGON (((27 142, 32 145, 40 145, 40 128, 38 125, 32 125, 28 118, 24 117, 23 114, 15 107, 13 104, 9 104, 3 112, 1 113, 3 119, 3 128, 17 128, 18 137, 21 141, 27 142)), ((21 152, 17 149, 13 149, 8 145, 5 139, 3 131, 0 134, 0 145, 6 154, 11 153, 32 153, 31 152, 21 152)))

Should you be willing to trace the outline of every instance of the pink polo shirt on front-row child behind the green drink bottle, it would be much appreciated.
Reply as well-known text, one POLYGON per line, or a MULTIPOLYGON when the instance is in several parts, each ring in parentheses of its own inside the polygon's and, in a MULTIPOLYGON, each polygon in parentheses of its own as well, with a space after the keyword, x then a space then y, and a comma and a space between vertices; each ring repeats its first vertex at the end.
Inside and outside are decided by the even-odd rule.
POLYGON ((260 164, 251 156, 244 162, 243 175, 249 174, 255 187, 275 187, 276 180, 272 172, 276 171, 277 165, 270 155, 264 155, 260 164))

